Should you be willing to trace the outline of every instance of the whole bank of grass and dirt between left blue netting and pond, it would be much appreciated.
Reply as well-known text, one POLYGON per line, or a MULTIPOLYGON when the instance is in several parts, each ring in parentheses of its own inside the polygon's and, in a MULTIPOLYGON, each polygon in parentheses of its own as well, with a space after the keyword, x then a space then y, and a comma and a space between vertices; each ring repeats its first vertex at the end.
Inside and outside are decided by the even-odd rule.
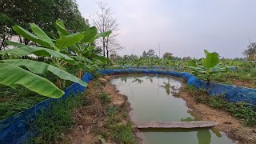
POLYGON ((36 121, 30 122, 31 128, 38 131, 30 142, 72 142, 72 139, 81 139, 72 135, 80 130, 75 128, 81 126, 85 130, 90 127, 90 134, 98 143, 135 143, 127 105, 114 106, 110 94, 103 89, 101 82, 94 81, 84 94, 52 103, 50 110, 42 111, 36 121))

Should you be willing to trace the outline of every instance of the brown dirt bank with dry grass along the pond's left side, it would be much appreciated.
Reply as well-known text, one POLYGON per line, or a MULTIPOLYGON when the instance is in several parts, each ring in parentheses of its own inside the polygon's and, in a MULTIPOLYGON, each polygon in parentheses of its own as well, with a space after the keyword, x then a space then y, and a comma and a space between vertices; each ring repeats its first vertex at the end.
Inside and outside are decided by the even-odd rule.
POLYGON ((140 143, 140 139, 135 136, 134 124, 130 120, 130 103, 126 96, 118 93, 115 86, 110 85, 110 77, 104 78, 106 82, 93 81, 89 83, 84 96, 86 105, 74 111, 74 119, 77 124, 72 128, 70 134, 66 135, 64 143, 101 144, 103 141, 106 143, 121 143, 118 141, 140 143), (107 94, 110 102, 107 102, 107 98, 100 97, 101 94, 107 94), (108 116, 114 110, 110 110, 113 107, 116 107, 118 112, 108 116), (124 129, 126 131, 122 131, 124 129), (130 139, 126 140, 122 133, 129 132, 131 133, 130 139))

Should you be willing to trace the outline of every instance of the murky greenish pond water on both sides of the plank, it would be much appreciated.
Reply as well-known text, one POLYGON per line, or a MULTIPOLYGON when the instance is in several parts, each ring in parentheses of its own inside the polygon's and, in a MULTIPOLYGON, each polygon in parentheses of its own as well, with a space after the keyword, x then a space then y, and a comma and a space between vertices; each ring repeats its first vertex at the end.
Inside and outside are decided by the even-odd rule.
MULTIPOLYGON (((182 86, 182 80, 168 76, 122 75, 111 80, 121 94, 128 97, 131 118, 136 122, 197 121, 200 118, 172 91, 182 86)), ((152 144, 226 144, 232 141, 218 130, 200 129, 145 129, 140 133, 144 143, 152 144)))

